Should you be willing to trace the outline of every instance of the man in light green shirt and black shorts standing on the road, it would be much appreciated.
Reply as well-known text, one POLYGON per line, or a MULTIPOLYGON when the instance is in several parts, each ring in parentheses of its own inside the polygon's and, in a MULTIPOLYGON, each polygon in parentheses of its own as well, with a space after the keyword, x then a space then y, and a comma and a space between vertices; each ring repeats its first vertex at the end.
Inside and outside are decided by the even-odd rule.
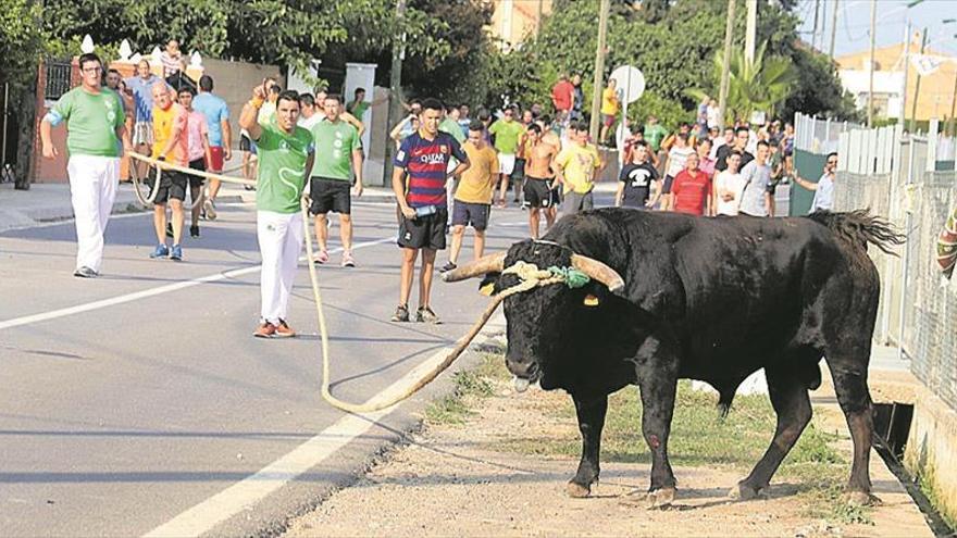
POLYGON ((352 174, 356 175, 356 196, 362 196, 362 140, 359 132, 340 116, 339 97, 327 95, 322 103, 325 118, 312 126, 315 139, 315 164, 309 197, 310 212, 315 215, 315 239, 319 252, 315 263, 328 262, 328 225, 326 213, 339 214, 339 238, 343 240, 343 266, 355 267, 352 259, 352 174))

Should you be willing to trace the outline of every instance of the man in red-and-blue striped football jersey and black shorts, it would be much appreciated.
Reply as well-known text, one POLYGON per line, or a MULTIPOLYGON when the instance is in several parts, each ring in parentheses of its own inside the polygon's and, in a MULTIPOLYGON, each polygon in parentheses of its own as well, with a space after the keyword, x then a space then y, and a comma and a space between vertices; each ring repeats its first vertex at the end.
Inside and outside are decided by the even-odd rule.
POLYGON ((399 305, 393 314, 394 322, 409 321, 409 296, 415 259, 422 251, 422 273, 419 280, 419 322, 440 323, 430 306, 435 254, 445 249, 445 225, 448 221, 445 186, 449 177, 469 168, 469 158, 461 146, 448 133, 438 130, 443 105, 438 99, 422 101, 419 130, 406 137, 394 161, 393 191, 401 211, 398 245, 402 249, 402 271, 399 287, 399 305), (451 172, 451 158, 459 165, 451 172), (406 177, 408 176, 408 185, 406 177))

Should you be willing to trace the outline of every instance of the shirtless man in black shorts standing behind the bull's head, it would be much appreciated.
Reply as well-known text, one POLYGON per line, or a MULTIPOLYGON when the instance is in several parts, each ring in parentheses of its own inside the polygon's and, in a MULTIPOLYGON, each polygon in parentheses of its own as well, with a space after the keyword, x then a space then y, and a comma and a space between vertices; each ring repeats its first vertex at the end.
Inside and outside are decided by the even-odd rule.
POLYGON ((547 228, 555 224, 555 213, 549 211, 555 204, 551 183, 555 171, 551 167, 558 148, 542 140, 542 127, 537 123, 529 126, 525 151, 525 205, 529 207, 529 229, 532 239, 538 239, 538 223, 545 213, 547 228))

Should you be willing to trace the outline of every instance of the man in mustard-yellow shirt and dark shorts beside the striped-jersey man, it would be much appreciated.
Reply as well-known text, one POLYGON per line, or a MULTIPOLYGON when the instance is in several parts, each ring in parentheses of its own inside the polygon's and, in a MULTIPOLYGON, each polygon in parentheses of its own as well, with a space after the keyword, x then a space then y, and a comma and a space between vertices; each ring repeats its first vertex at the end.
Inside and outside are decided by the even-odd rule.
POLYGON ((449 251, 449 262, 440 270, 443 273, 456 268, 467 225, 471 224, 475 230, 475 259, 482 258, 485 250, 485 228, 488 226, 492 196, 498 183, 499 167, 498 154, 485 142, 484 130, 485 125, 482 122, 472 122, 469 125, 469 140, 462 145, 472 166, 462 173, 456 190, 452 248, 449 251))

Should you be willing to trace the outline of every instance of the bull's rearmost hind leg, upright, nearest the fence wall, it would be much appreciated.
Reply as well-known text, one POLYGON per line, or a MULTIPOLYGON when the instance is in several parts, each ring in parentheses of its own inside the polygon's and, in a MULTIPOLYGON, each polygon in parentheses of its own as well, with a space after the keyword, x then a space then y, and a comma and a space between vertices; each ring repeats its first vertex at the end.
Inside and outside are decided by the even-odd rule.
MULTIPOLYGON (((869 342, 868 342, 869 343, 869 342)), ((854 353, 825 356, 834 392, 841 411, 847 420, 850 438, 854 441, 854 461, 850 465, 850 480, 847 483, 848 500, 855 504, 869 504, 877 500, 871 496, 870 455, 874 434, 873 405, 867 386, 867 367, 870 346, 858 348, 854 353)))

